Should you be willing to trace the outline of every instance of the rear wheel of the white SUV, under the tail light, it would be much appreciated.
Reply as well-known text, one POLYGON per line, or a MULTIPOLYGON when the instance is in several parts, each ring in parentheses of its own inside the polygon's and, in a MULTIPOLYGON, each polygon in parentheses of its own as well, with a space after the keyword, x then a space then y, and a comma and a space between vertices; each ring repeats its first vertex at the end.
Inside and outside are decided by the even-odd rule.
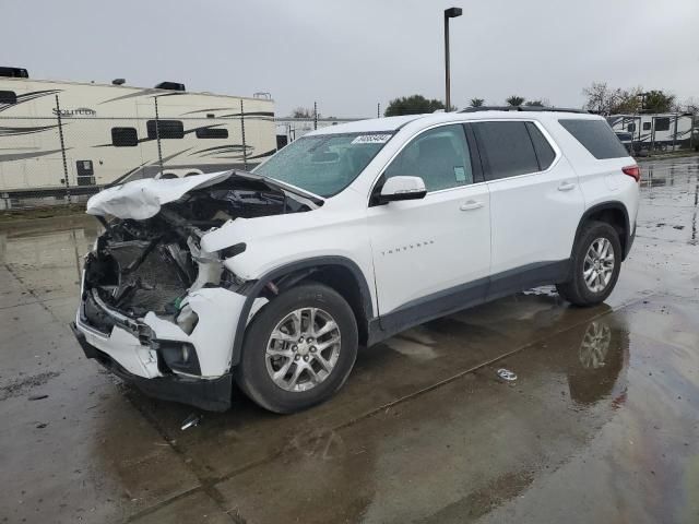
MULTIPOLYGON (((594 259, 596 257, 593 257, 593 261, 594 259)), ((619 277, 620 269, 621 242, 616 229, 604 222, 589 222, 583 225, 572 249, 570 279, 562 284, 557 284, 556 289, 564 299, 576 306, 595 306, 609 296, 619 277), (585 273, 591 265, 589 261, 585 261, 585 257, 592 249, 593 243, 596 248, 606 247, 606 253, 612 252, 613 261, 608 261, 607 254, 600 258, 604 259, 604 261, 593 262, 592 273, 597 274, 599 277, 593 278, 592 285, 589 285, 585 282, 585 274, 592 278, 592 273, 585 273), (595 266, 595 263, 599 265, 595 266), (595 267, 601 271, 596 271, 595 267), (608 279, 606 278, 607 275, 608 279)))

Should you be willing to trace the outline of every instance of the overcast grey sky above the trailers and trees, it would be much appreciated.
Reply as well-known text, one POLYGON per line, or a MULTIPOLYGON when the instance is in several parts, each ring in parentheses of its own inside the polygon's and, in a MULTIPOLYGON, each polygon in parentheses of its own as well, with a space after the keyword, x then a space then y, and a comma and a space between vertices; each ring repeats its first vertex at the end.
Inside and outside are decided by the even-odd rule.
POLYGON ((36 79, 272 93, 276 114, 372 116, 419 93, 578 107, 592 81, 699 97, 698 0, 2 0, 0 66, 36 79))

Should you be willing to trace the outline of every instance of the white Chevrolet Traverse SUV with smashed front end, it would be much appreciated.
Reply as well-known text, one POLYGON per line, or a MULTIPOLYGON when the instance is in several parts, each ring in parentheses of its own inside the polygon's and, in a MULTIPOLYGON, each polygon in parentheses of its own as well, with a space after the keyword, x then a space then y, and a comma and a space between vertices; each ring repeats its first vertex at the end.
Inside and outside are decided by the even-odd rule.
POLYGON ((607 122, 486 110, 330 127, 252 174, 138 180, 93 196, 74 332, 152 395, 277 413, 331 396, 357 346, 544 284, 614 288, 639 169, 607 122), (105 217, 109 217, 107 221, 105 217))

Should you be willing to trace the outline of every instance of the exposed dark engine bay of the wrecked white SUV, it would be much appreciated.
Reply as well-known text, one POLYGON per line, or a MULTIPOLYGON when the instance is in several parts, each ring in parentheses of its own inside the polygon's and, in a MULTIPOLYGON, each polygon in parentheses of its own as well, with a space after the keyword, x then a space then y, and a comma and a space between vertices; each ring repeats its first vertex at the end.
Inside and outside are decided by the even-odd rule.
POLYGON ((149 218, 99 216, 105 233, 85 261, 85 320, 109 332, 114 320, 106 305, 131 319, 153 312, 191 333, 197 318, 183 299, 204 287, 233 286, 223 261, 245 249, 234 245, 209 253, 200 247, 202 236, 228 221, 305 212, 311 205, 265 179, 234 171, 158 205, 149 218))

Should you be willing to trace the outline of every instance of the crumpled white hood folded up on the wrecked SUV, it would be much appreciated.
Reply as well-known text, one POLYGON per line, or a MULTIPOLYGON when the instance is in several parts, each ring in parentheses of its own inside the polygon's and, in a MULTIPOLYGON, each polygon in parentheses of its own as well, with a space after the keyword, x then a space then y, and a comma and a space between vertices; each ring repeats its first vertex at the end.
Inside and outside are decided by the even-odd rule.
POLYGON ((117 218, 144 221, 155 216, 163 204, 174 202, 189 191, 218 183, 234 171, 192 175, 185 178, 133 180, 105 189, 87 201, 91 215, 112 215, 117 218))

